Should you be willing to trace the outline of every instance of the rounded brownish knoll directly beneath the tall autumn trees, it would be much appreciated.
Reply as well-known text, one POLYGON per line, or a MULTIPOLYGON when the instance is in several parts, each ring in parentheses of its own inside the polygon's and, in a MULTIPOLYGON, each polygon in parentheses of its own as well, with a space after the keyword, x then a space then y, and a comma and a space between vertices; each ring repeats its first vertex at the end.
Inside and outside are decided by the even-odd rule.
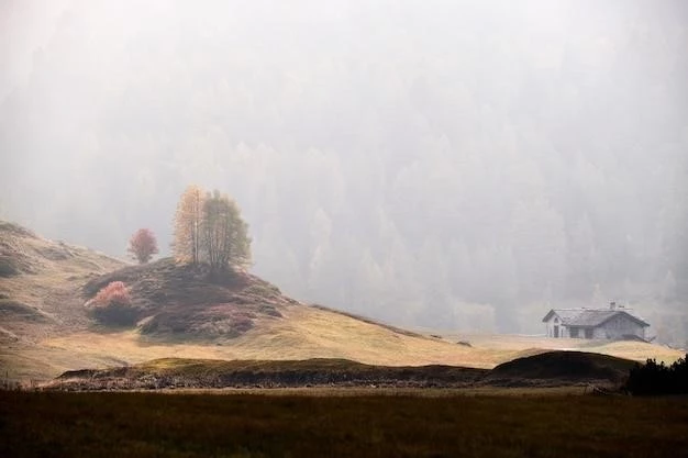
POLYGON ((131 290, 141 333, 163 339, 234 338, 299 304, 251 273, 214 273, 206 265, 178 265, 171 258, 96 277, 84 286, 85 299, 112 281, 122 281, 131 290))

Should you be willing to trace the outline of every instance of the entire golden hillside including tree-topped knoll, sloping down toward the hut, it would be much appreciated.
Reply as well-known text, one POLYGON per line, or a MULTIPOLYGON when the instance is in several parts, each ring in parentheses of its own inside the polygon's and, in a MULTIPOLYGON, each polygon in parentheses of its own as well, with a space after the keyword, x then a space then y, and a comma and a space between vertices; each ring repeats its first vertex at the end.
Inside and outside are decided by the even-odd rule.
POLYGON ((247 272, 211 276, 170 259, 131 266, 5 222, 0 222, 0 371, 23 381, 159 358, 493 368, 562 346, 635 360, 683 356, 644 343, 422 335, 300 303, 247 272), (131 290, 136 316, 130 326, 99 322, 85 308, 111 281, 131 290), (464 339, 470 345, 457 344, 464 339), (597 347, 581 348, 586 345, 597 347))

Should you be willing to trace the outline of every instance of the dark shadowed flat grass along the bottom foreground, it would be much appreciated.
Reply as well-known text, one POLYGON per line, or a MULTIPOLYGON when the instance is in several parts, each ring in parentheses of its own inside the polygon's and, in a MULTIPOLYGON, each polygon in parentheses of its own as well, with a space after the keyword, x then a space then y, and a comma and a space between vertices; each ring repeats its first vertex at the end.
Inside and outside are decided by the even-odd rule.
POLYGON ((688 399, 1 392, 2 457, 686 457, 688 399))

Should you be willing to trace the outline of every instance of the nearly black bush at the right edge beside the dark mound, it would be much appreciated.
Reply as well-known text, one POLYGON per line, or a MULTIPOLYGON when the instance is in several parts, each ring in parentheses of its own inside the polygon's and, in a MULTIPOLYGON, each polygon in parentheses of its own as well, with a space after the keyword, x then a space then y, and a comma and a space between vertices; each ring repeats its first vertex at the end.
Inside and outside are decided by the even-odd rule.
POLYGON ((635 395, 687 394, 688 355, 670 366, 654 359, 636 364, 629 373, 625 389, 635 395))

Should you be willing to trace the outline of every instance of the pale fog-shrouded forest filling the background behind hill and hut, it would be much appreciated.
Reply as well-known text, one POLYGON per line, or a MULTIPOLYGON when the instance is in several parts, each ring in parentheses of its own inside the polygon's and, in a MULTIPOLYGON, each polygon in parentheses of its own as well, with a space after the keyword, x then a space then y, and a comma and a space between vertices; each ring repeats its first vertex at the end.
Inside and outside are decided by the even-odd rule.
POLYGON ((45 11, 0 92, 7 217, 113 255, 144 225, 165 249, 198 182, 301 300, 539 333, 615 299, 685 342, 686 2, 45 11))

